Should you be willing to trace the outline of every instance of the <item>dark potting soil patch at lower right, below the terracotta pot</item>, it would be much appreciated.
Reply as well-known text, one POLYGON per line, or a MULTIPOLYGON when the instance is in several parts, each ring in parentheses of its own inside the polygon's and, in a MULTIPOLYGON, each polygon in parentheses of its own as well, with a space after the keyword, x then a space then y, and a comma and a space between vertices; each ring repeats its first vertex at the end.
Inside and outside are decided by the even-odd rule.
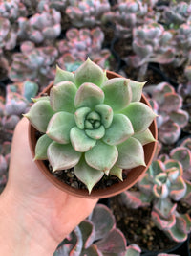
POLYGON ((177 245, 155 226, 150 207, 129 209, 116 196, 110 198, 110 208, 129 244, 138 244, 142 251, 161 252, 177 245))

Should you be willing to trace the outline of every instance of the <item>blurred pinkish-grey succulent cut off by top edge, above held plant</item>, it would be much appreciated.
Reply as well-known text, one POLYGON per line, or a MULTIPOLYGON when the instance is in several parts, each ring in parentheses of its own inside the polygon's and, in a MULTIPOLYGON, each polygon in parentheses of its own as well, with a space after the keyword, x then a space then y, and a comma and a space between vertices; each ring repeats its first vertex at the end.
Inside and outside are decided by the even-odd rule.
POLYGON ((66 13, 71 18, 71 22, 76 28, 92 28, 101 24, 102 16, 110 11, 108 0, 70 0, 66 13))

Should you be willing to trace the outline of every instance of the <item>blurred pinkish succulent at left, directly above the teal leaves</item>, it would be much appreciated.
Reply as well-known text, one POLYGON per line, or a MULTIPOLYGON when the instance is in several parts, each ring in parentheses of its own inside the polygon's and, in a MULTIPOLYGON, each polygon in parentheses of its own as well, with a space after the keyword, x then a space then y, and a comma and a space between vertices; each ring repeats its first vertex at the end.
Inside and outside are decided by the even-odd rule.
POLYGON ((53 46, 35 47, 31 41, 21 44, 21 53, 12 56, 9 78, 14 82, 31 80, 40 86, 53 81, 53 64, 58 56, 53 46))

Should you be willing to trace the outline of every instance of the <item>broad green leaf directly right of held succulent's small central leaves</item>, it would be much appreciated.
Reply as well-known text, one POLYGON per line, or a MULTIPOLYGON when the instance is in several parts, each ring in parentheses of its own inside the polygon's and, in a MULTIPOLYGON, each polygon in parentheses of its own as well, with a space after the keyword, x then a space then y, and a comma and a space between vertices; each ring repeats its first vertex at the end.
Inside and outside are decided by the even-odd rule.
POLYGON ((109 145, 117 145, 134 134, 134 129, 128 117, 123 114, 115 114, 112 124, 105 131, 103 141, 109 145))

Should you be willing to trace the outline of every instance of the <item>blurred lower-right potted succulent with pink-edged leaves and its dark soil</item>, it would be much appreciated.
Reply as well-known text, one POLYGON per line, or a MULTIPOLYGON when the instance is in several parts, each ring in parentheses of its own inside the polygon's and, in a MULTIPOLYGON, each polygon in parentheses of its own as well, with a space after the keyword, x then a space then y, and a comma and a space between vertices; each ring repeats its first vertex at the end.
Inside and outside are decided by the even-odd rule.
MULTIPOLYGON (((119 204, 116 208, 111 202, 111 208, 120 229, 118 223, 122 218, 123 223, 133 229, 125 234, 129 243, 135 243, 133 239, 136 238, 142 250, 150 251, 149 255, 157 255, 161 250, 170 251, 175 245, 186 241, 191 231, 189 194, 190 185, 183 178, 180 162, 160 157, 153 161, 134 190, 117 196, 119 204), (125 217, 121 217, 122 214, 117 216, 117 212, 121 211, 126 212, 125 217), (144 220, 140 219, 141 213, 144 220), (133 221, 136 218, 138 223, 133 221)), ((121 230, 123 232, 124 228, 121 230)))

